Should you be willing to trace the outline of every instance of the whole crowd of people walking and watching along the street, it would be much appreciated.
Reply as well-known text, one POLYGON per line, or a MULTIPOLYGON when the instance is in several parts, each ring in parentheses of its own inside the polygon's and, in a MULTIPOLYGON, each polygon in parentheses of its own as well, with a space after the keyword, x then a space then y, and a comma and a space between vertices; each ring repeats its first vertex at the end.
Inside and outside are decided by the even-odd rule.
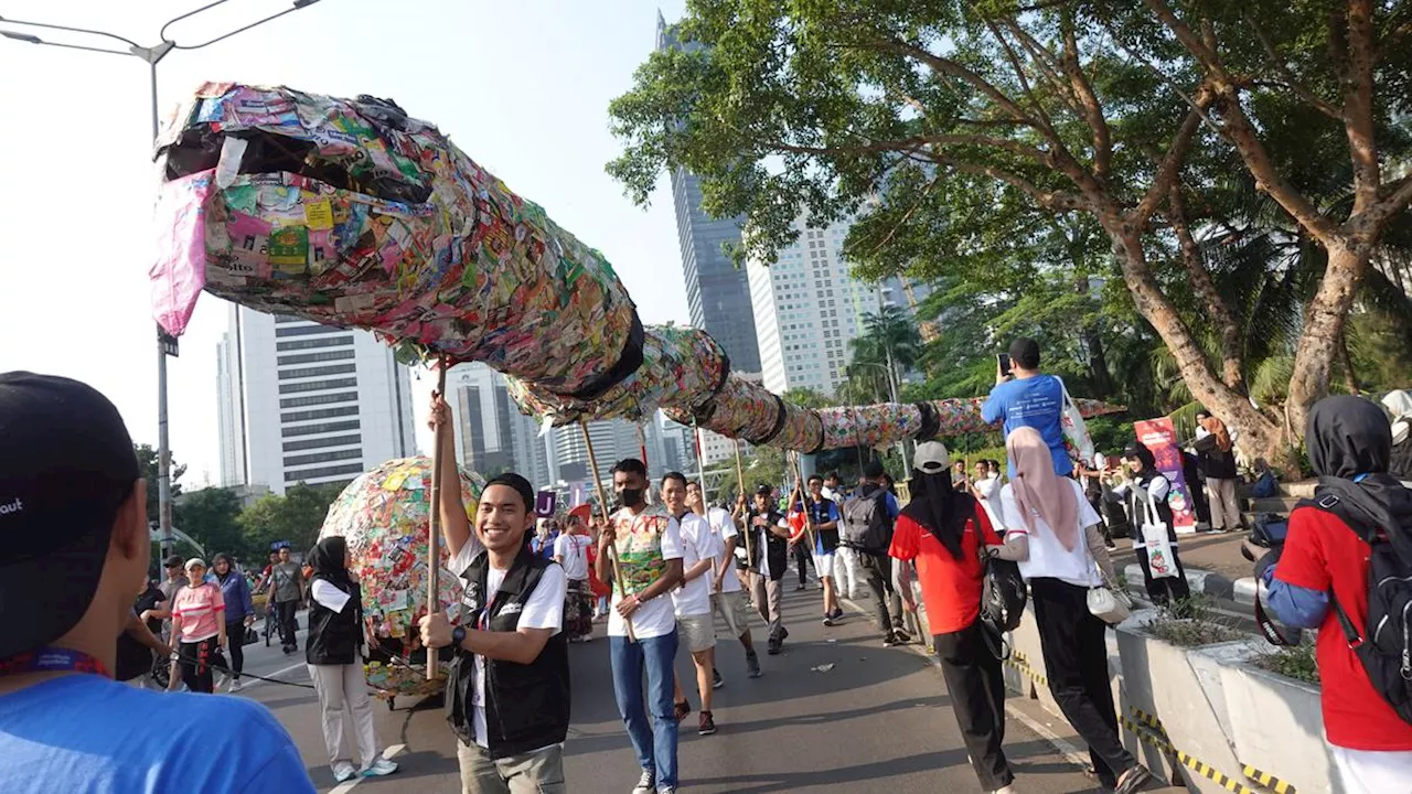
MULTIPOLYGON (((1121 473, 1099 462, 1076 466, 1063 405, 1063 384, 1041 372, 1038 345, 1017 340, 983 408, 1003 428, 1007 459, 977 462, 971 479, 942 442, 921 442, 905 504, 877 462, 850 486, 836 473, 815 475, 788 494, 764 483, 748 499, 710 504, 700 482, 678 472, 654 479, 628 458, 611 469, 616 511, 580 506, 561 531, 556 521, 537 521, 537 492, 515 473, 489 480, 467 511, 448 466, 435 509, 465 596, 452 613, 426 615, 419 640, 449 648, 448 745, 463 790, 573 790, 563 769, 569 644, 589 641, 593 624, 606 620, 613 691, 640 770, 633 794, 678 791, 678 733, 692 701, 702 736, 716 733, 719 719, 729 723, 713 708, 713 691, 726 684, 716 626, 726 629, 723 653, 743 653, 753 678, 767 674, 751 624, 758 617, 765 626, 767 656, 782 653, 791 559, 796 589, 809 586, 806 567, 815 569, 825 626, 842 619, 843 599, 867 599, 884 646, 914 641, 921 593, 950 709, 987 793, 1024 790, 1005 756, 1000 643, 1019 619, 1014 599, 1028 600, 1022 619, 1036 624, 1048 687, 1087 743, 1091 773, 1117 794, 1142 790, 1152 774, 1124 747, 1108 680, 1104 634, 1130 602, 1103 513, 1118 503, 1130 523, 1144 526, 1131 535, 1145 591, 1179 612, 1189 592, 1166 499, 1172 483, 1141 444, 1123 454, 1121 473), (1147 544, 1161 545, 1161 537, 1147 530, 1159 526, 1169 533, 1162 554, 1171 561, 1148 558, 1147 544), (1168 564, 1176 575, 1154 571, 1168 564), (1018 585, 1007 588, 1007 576, 1018 585), (674 665, 682 646, 693 672, 685 681, 674 665)), ((450 424, 439 394, 431 424, 450 424)), ((1214 439, 1200 445, 1207 455, 1230 454, 1230 432, 1216 417, 1202 417, 1202 438, 1214 439)), ((438 438, 453 459, 452 434, 438 438)), ((1412 716, 1368 667, 1361 639, 1353 641, 1387 606, 1367 592, 1370 557, 1412 559, 1412 490, 1388 473, 1402 439, 1374 403, 1332 397, 1313 407, 1306 442, 1320 499, 1291 514, 1278 551, 1260 550, 1258 575, 1284 622, 1319 629, 1324 725, 1346 790, 1404 791, 1412 716)), ((1209 483, 1213 526, 1227 530, 1240 521, 1220 482, 1228 473, 1207 468, 1217 480, 1209 483)), ((203 697, 216 671, 239 689, 253 589, 268 593, 287 654, 298 651, 294 615, 308 603, 304 651, 332 778, 397 771, 374 730, 363 672, 374 639, 343 538, 323 538, 305 567, 288 548, 274 552, 253 588, 226 555, 209 572, 199 558, 171 557, 167 579, 151 586, 145 482, 117 411, 80 383, 31 373, 0 374, 0 531, 6 791, 312 791, 267 711, 203 697), (169 687, 179 681, 189 694, 112 681, 114 668, 119 680, 133 678, 141 667, 133 660, 150 661, 152 650, 171 660, 169 687), (144 719, 133 722, 133 713, 144 719), (345 749, 345 716, 356 759, 354 747, 345 749)))

